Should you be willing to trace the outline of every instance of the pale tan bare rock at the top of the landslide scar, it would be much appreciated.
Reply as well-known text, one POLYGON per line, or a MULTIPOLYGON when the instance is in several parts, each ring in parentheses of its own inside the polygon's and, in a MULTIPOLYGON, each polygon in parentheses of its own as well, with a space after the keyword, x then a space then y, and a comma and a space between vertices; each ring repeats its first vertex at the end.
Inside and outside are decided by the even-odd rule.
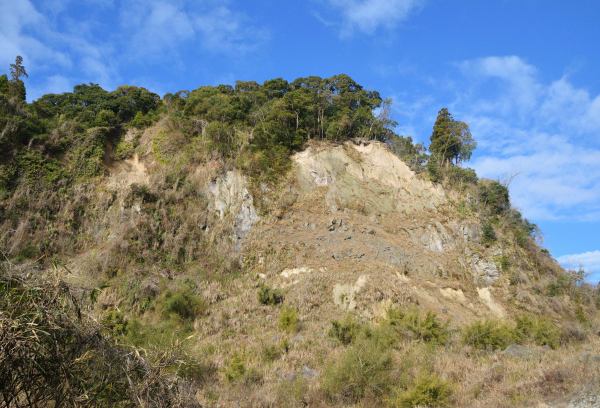
POLYGON ((327 189, 331 210, 414 213, 445 202, 441 188, 421 180, 381 143, 309 147, 294 156, 301 190, 327 189))

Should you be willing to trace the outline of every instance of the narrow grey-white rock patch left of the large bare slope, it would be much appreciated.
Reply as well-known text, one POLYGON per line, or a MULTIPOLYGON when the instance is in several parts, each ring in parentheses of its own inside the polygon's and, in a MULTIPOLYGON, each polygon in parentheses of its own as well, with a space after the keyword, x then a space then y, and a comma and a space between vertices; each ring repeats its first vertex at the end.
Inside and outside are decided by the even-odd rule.
POLYGON ((208 185, 208 191, 213 196, 214 209, 219 217, 233 217, 236 242, 242 240, 259 220, 247 186, 246 178, 238 171, 228 171, 208 185))

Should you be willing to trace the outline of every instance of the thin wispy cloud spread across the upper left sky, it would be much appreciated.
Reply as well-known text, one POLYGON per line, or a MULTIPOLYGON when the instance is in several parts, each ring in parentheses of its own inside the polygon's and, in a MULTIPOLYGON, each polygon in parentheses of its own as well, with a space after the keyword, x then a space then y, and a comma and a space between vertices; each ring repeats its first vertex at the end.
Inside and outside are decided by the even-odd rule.
POLYGON ((268 38, 228 0, 0 1, 0 64, 25 58, 30 98, 81 82, 114 88, 132 64, 245 55, 268 38))

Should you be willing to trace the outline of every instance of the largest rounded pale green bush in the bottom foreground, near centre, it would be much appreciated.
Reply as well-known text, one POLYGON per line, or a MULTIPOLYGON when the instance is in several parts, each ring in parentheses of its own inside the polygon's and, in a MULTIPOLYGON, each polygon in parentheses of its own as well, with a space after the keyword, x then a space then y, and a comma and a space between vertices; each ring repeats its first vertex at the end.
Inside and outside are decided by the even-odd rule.
POLYGON ((389 349, 360 339, 326 367, 321 386, 330 400, 357 403, 365 397, 381 398, 392 383, 389 349))

